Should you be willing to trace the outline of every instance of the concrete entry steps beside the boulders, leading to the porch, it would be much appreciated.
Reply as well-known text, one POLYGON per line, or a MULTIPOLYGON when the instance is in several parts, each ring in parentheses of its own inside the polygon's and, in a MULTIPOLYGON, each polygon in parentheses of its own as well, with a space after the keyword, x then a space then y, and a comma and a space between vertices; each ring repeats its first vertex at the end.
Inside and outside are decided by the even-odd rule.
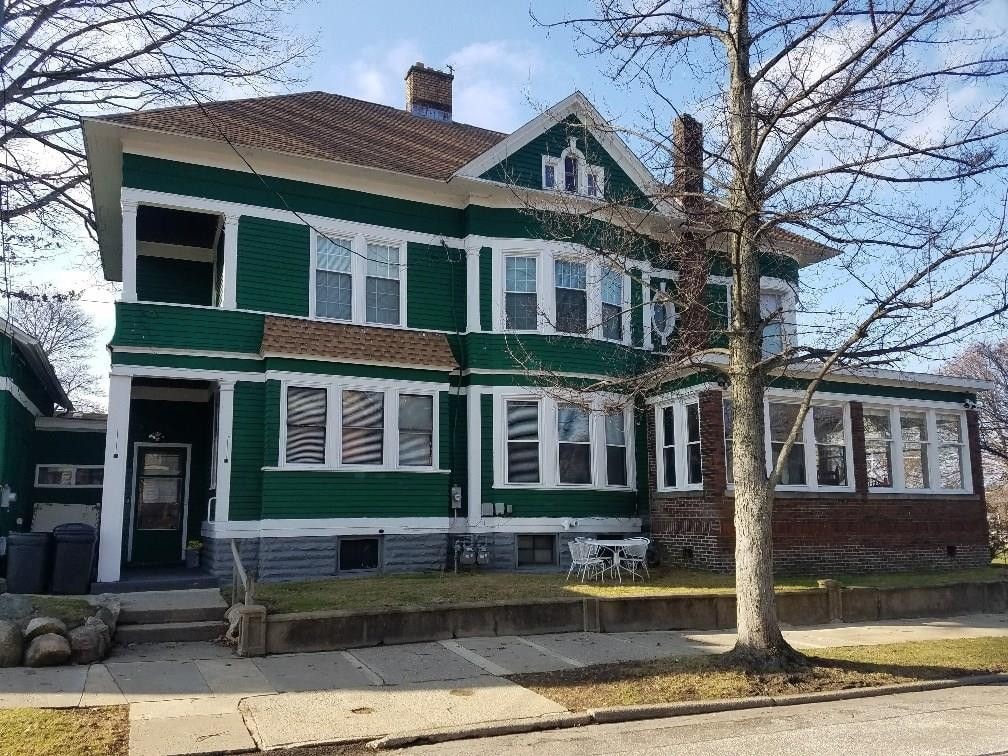
POLYGON ((121 644, 214 640, 227 630, 228 605, 217 589, 129 593, 119 601, 121 644))

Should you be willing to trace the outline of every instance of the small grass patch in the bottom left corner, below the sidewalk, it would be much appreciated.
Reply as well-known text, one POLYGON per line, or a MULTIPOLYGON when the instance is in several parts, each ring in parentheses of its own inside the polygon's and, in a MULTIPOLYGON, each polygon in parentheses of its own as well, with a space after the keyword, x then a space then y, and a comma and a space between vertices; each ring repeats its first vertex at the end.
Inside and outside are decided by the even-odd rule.
POLYGON ((4 756, 126 756, 129 708, 2 709, 4 756))

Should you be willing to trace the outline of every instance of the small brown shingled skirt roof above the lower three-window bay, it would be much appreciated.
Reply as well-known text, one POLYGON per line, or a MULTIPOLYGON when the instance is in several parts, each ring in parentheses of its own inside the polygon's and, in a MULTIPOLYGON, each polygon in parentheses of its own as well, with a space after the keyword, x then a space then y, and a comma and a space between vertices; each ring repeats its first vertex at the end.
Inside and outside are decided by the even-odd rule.
POLYGON ((274 316, 267 316, 263 325, 262 354, 442 370, 459 367, 444 334, 274 316))

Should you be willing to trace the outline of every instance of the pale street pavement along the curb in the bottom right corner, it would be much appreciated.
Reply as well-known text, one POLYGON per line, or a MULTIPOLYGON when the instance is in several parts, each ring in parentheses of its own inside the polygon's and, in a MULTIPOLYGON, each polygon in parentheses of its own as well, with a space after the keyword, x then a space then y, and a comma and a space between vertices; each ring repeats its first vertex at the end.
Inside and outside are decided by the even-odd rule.
POLYGON ((1008 754, 1008 685, 755 709, 467 740, 404 756, 994 756, 1008 754))

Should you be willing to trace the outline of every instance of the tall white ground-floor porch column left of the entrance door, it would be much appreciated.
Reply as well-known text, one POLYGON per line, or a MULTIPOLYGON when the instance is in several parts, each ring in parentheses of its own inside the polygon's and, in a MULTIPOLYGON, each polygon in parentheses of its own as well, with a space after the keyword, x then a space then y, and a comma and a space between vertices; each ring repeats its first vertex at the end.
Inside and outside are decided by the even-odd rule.
POLYGON ((109 376, 109 419, 105 431, 105 478, 102 483, 98 580, 116 583, 122 562, 126 510, 126 460, 129 455, 129 406, 133 379, 109 376))

